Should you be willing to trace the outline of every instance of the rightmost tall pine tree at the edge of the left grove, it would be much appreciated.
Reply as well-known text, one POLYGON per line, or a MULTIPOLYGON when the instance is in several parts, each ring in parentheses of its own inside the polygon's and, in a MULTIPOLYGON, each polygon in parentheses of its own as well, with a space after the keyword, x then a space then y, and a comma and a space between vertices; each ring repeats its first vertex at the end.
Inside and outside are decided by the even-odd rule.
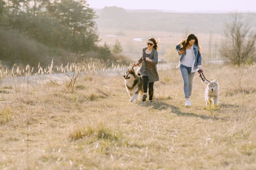
POLYGON ((85 0, 62 0, 57 9, 61 25, 70 30, 74 50, 92 50, 98 41, 95 11, 85 0))

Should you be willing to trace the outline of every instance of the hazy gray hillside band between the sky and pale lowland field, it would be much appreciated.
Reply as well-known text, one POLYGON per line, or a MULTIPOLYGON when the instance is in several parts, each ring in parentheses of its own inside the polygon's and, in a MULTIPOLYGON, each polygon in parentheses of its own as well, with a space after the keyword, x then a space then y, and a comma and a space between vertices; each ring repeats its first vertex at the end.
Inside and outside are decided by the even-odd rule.
MULTIPOLYGON (((222 33, 229 13, 168 13, 157 10, 125 10, 105 7, 96 10, 99 28, 128 29, 137 31, 183 32, 189 27, 193 33, 222 33)), ((243 13, 242 17, 251 22, 256 30, 256 13, 243 13)))

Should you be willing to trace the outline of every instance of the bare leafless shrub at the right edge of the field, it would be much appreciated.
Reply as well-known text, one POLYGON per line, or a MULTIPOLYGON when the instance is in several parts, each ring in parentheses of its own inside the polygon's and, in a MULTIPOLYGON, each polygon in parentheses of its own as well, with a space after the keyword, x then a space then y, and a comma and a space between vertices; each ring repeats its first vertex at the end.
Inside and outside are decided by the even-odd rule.
POLYGON ((225 22, 226 39, 220 47, 220 55, 227 62, 239 66, 256 61, 256 33, 249 32, 250 29, 249 23, 245 23, 238 13, 233 13, 229 21, 225 22))

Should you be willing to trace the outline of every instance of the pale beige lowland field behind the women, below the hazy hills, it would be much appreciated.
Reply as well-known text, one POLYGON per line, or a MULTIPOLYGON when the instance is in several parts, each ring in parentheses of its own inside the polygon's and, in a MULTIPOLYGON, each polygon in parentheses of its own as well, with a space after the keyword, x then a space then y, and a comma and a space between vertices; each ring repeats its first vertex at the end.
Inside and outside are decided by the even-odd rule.
MULTIPOLYGON (((210 33, 199 33, 195 34, 198 39, 200 46, 202 46, 203 58, 208 60, 208 50, 209 50, 209 36, 210 33)), ((164 31, 134 31, 134 30, 122 30, 122 29, 106 29, 99 28, 99 45, 103 45, 105 42, 110 46, 115 44, 116 40, 121 42, 123 48, 123 54, 132 58, 132 60, 137 60, 141 57, 141 52, 144 47, 146 47, 146 42, 148 38, 153 37, 155 39, 159 38, 159 58, 175 61, 178 60, 178 56, 175 51, 175 46, 178 42, 182 40, 184 33, 171 33, 164 31), (106 36, 114 35, 114 36, 106 36), (134 38, 142 38, 142 41, 135 41, 134 38), (173 59, 174 58, 174 59, 173 59)), ((218 49, 220 42, 222 40, 222 35, 213 34, 212 36, 212 51, 218 49)), ((218 52, 218 51, 217 51, 218 52)), ((219 57, 219 56, 217 56, 219 57)))

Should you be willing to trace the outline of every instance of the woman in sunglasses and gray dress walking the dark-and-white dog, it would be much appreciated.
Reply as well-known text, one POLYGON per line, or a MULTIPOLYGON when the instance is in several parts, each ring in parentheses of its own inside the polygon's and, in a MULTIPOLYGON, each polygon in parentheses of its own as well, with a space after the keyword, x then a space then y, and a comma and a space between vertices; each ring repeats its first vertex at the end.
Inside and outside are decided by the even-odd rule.
POLYGON ((141 60, 140 74, 143 80, 143 92, 142 101, 145 102, 147 96, 149 95, 149 101, 152 102, 154 94, 154 82, 159 80, 157 73, 157 63, 158 63, 158 53, 157 53, 157 43, 154 38, 149 38, 147 42, 147 47, 142 49, 142 57, 135 63, 137 66, 141 60), (148 95, 147 95, 148 93, 148 95))

